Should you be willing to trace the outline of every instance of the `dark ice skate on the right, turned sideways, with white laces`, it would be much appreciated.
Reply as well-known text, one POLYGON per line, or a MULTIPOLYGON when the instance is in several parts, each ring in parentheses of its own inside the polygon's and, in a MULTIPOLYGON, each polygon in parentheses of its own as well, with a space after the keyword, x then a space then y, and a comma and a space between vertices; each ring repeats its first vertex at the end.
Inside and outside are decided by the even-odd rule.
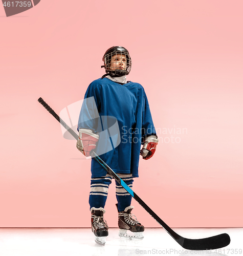
MULTIPOLYGON (((117 204, 116 204, 117 206, 117 204)), ((119 237, 129 239, 143 239, 144 226, 138 222, 135 215, 131 214, 134 206, 128 206, 124 211, 118 212, 119 237), (133 219, 132 217, 135 217, 133 219), (127 234, 127 230, 134 233, 134 236, 127 234)))

